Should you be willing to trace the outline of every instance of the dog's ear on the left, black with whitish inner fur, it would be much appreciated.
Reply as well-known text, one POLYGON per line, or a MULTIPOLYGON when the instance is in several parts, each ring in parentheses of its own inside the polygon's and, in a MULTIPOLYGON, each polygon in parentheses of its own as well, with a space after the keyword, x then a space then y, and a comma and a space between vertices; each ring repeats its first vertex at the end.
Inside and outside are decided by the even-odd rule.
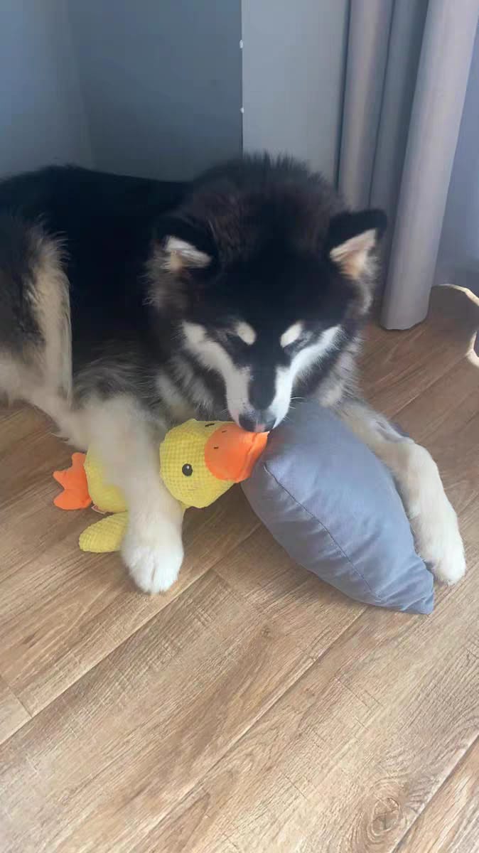
POLYGON ((164 270, 177 275, 204 270, 216 256, 209 229, 191 219, 164 218, 157 226, 156 240, 163 256, 164 270))

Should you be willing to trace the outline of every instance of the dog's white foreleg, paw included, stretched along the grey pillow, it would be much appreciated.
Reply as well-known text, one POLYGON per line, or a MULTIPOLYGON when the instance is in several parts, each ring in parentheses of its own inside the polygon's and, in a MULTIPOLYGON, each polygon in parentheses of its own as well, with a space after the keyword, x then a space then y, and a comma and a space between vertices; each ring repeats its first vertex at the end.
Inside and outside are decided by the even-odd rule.
POLYGON ((424 447, 401 435, 361 400, 338 405, 338 415, 381 459, 395 478, 418 553, 435 576, 456 583, 465 573, 458 519, 447 500, 436 462, 424 447))

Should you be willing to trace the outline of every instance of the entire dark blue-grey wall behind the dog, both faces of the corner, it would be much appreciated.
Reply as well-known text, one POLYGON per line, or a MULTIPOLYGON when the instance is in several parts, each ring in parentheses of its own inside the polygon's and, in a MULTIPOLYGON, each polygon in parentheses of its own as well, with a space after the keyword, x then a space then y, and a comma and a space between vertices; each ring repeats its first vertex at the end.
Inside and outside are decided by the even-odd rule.
POLYGON ((240 0, 0 0, 0 175, 239 154, 240 28, 240 0))

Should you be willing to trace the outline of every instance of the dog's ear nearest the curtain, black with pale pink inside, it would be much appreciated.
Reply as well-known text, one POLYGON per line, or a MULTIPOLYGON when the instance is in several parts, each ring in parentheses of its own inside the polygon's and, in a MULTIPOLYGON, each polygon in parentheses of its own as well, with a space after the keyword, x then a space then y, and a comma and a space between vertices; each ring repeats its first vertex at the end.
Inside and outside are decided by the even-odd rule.
POLYGON ((384 234, 386 214, 380 210, 343 212, 332 218, 326 238, 326 254, 338 264, 343 276, 360 279, 370 253, 384 234))

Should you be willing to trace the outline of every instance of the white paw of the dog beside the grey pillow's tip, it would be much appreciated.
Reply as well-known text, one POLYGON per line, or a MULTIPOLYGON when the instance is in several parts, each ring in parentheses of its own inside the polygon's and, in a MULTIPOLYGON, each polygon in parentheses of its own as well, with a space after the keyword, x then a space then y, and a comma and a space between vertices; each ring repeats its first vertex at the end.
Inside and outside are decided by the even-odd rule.
POLYGON ((436 506, 413 519, 418 552, 437 580, 457 583, 465 573, 464 545, 457 516, 445 495, 436 506))

